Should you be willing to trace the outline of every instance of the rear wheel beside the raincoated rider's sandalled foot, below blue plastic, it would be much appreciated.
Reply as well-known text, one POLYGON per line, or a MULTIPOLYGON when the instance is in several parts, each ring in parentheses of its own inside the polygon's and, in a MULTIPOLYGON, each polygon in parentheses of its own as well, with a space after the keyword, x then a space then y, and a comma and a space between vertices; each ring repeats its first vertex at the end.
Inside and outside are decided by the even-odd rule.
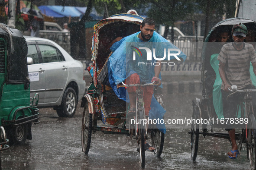
POLYGON ((152 146, 155 148, 156 156, 160 157, 164 148, 165 134, 158 129, 152 129, 151 141, 152 146))

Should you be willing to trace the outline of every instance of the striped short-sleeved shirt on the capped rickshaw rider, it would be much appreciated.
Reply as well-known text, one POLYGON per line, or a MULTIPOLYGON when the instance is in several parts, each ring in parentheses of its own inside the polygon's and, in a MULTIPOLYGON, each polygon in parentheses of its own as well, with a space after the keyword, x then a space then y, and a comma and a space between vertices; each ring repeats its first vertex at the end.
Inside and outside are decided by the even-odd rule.
MULTIPOLYGON (((221 48, 217 60, 225 64, 224 72, 229 85, 237 85, 237 89, 242 89, 246 85, 252 84, 250 62, 256 62, 253 45, 243 43, 243 49, 237 50, 233 42, 225 44, 221 48)), ((221 89, 224 90, 223 82, 221 89)))

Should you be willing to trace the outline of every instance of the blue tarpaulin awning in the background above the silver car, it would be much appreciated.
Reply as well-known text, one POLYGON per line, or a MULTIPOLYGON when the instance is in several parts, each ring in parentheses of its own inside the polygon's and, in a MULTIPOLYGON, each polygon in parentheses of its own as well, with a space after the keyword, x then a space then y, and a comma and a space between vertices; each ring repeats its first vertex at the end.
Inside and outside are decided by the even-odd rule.
MULTIPOLYGON (((45 14, 46 16, 52 16, 55 18, 62 18, 62 17, 80 17, 84 15, 87 7, 77 7, 77 6, 39 6, 41 13, 45 14)), ((102 16, 98 15, 96 10, 93 8, 90 16, 94 20, 102 19, 102 16)))

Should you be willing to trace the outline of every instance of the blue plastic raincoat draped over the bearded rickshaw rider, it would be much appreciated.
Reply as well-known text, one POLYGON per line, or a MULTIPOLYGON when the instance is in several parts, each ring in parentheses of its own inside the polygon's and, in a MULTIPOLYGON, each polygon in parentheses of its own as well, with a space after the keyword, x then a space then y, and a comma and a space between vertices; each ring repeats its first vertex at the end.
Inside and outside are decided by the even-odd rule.
MULTIPOLYGON (((140 77, 140 82, 151 82, 152 77, 155 75, 154 72, 154 65, 150 63, 161 62, 161 60, 157 61, 154 57, 152 60, 148 61, 146 59, 146 50, 141 49, 139 47, 148 47, 155 50, 155 56, 157 58, 162 58, 164 55, 164 49, 176 49, 172 50, 170 53, 177 53, 179 50, 175 45, 167 41, 161 35, 159 35, 156 31, 154 31, 152 38, 147 41, 143 42, 139 39, 140 31, 129 35, 122 40, 114 43, 110 48, 111 51, 114 51, 113 54, 108 59, 108 72, 109 72, 109 82, 117 96, 126 102, 129 102, 129 99, 126 99, 126 90, 125 88, 117 89, 117 86, 120 82, 124 81, 127 77, 132 75, 133 73, 138 73, 140 77), (136 51, 136 52, 133 52, 136 51), (135 60, 134 60, 135 54, 135 60), (138 65, 138 63, 144 63, 138 65), (149 64, 146 65, 145 63, 148 62, 149 64)), ((152 55, 153 56, 153 55, 152 55)), ((186 55, 184 53, 180 53, 178 55, 179 58, 183 60, 186 59, 186 55)), ((169 60, 175 59, 175 57, 170 57, 169 60)), ((167 55, 165 57, 165 61, 167 60, 167 55)), ((161 75, 159 76, 161 79, 161 75)), ((128 95, 127 95, 128 96, 128 95)), ((156 101, 154 96, 152 96, 151 101, 151 110, 149 111, 149 119, 162 119, 164 113, 166 112, 162 106, 156 101)), ((156 125, 162 132, 165 133, 165 125, 158 124, 156 125)))

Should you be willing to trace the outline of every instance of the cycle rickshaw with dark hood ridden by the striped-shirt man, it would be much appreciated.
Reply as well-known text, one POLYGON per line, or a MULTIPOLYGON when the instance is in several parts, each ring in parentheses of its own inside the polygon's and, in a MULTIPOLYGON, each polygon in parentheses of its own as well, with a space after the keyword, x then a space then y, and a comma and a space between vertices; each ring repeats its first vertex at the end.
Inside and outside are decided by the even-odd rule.
MULTIPOLYGON (((251 29, 253 31, 256 31, 256 22, 254 22, 253 20, 247 18, 231 18, 225 19, 214 25, 214 27, 205 38, 201 59, 201 84, 203 85, 202 98, 193 99, 192 118, 195 120, 202 119, 209 121, 207 123, 193 122, 191 124, 191 131, 189 132, 189 134, 191 134, 191 158, 193 161, 196 160, 198 154, 200 134, 204 137, 213 136, 230 140, 228 133, 214 132, 214 128, 227 128, 227 126, 225 125, 226 118, 223 116, 222 98, 220 96, 221 79, 218 72, 219 61, 217 60, 220 49, 224 44, 214 44, 214 42, 216 41, 219 32, 221 32, 222 30, 231 32, 232 26, 239 23, 246 25, 248 30, 251 29), (213 51, 213 47, 216 47, 215 51, 213 51), (199 126, 199 124, 201 124, 201 126, 199 126), (209 126, 211 128, 211 132, 207 131, 207 127, 209 128, 209 126)), ((232 41, 231 37, 230 41, 232 41)), ((253 85, 255 86, 256 77, 251 69, 252 68, 250 68, 251 79, 253 85)), ((232 86, 232 89, 230 89, 230 95, 227 98, 229 98, 231 95, 238 93, 243 98, 237 109, 238 116, 235 118, 238 120, 246 120, 246 122, 244 123, 238 123, 239 126, 235 126, 236 128, 238 127, 238 129, 236 129, 238 152, 240 153, 242 144, 244 143, 246 145, 247 158, 250 160, 251 169, 254 170, 256 167, 256 123, 255 115, 252 108, 251 93, 255 92, 255 90, 236 90, 236 88, 237 87, 235 85, 232 86)))

